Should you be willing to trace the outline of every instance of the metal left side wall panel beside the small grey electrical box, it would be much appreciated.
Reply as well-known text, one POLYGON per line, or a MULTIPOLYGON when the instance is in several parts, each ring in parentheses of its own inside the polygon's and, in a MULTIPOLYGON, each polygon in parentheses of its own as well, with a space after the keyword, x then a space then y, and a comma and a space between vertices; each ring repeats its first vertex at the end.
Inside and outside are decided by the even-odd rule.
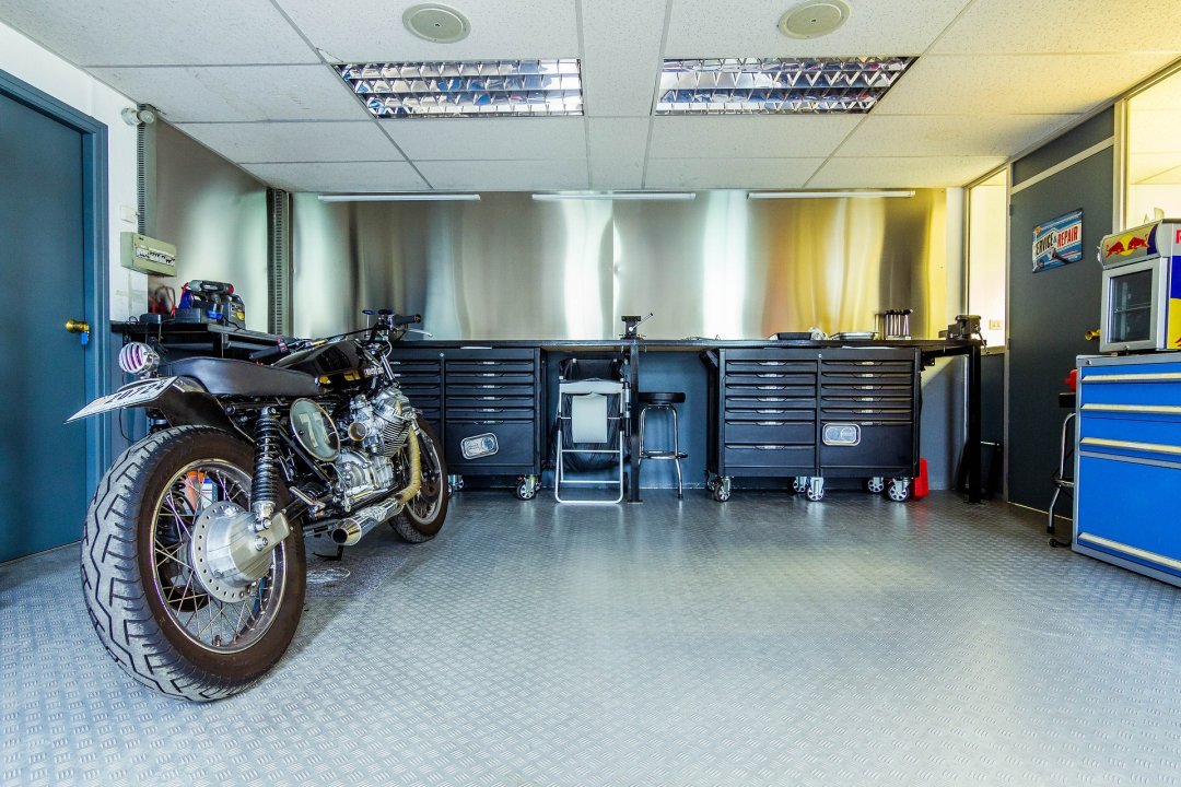
POLYGON ((149 234, 177 248, 181 284, 230 282, 246 323, 267 329, 267 186, 167 123, 156 129, 156 204, 149 234))

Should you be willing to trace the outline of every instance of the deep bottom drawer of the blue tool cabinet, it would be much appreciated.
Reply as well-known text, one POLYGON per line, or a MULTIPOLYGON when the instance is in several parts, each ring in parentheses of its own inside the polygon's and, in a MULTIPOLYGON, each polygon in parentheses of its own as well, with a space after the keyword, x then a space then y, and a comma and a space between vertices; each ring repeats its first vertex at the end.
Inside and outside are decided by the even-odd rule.
POLYGON ((1079 547, 1181 577, 1181 464, 1144 464, 1120 457, 1078 458, 1079 547))

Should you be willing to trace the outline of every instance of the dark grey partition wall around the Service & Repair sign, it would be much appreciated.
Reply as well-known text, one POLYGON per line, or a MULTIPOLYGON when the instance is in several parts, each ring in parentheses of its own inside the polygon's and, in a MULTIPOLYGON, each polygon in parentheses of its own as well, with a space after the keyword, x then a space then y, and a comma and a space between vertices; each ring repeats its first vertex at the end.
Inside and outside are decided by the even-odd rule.
MULTIPOLYGON (((1110 110, 1013 164, 1013 185, 1114 133, 1110 110)), ((1014 194, 1011 198, 1009 271, 1009 499, 1045 510, 1053 494, 1058 435, 1065 412, 1057 394, 1075 356, 1098 347, 1083 334, 1100 324, 1102 269, 1094 250, 1111 231, 1115 201, 1113 149, 1014 194), (1033 228, 1082 208, 1079 262, 1032 273, 1033 228)))

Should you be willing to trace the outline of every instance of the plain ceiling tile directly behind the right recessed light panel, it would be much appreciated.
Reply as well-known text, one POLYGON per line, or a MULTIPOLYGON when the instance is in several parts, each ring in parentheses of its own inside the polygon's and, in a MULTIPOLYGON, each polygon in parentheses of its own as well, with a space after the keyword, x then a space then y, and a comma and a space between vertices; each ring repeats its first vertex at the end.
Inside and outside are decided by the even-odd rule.
POLYGON ((650 158, 803 158, 828 156, 866 116, 660 117, 650 158))

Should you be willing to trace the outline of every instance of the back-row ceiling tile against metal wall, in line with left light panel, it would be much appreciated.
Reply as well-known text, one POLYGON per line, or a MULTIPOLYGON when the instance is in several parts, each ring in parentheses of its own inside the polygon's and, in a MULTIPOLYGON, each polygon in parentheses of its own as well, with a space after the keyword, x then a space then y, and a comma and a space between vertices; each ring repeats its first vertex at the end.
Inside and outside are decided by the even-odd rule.
POLYGON ((431 186, 463 191, 568 191, 589 188, 585 158, 553 162, 422 162, 431 186))

